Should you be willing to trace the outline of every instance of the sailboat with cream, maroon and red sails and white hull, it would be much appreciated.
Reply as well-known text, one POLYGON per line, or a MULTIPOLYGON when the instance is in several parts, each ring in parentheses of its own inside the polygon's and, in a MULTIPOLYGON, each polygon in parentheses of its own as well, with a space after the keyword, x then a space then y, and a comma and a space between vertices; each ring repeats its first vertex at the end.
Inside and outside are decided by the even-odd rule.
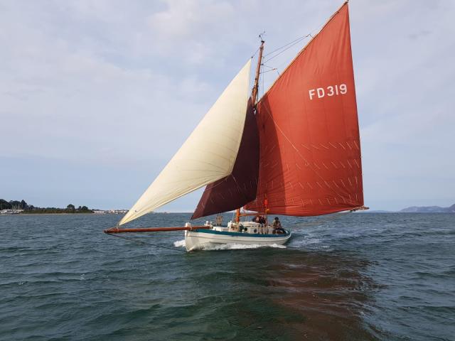
POLYGON ((291 232, 278 233, 270 215, 367 208, 348 2, 258 99, 263 50, 261 40, 252 90, 250 59, 119 226, 105 232, 184 230, 188 251, 213 244, 279 245, 291 232), (203 186, 191 220, 235 210, 228 224, 120 227, 203 186), (251 215, 261 217, 254 222, 251 215))

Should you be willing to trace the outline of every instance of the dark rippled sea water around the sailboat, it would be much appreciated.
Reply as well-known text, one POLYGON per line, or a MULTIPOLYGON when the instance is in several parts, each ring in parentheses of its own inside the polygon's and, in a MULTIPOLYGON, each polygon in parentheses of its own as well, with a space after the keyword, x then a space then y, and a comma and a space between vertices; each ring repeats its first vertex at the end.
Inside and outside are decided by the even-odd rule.
POLYGON ((189 253, 102 233, 119 218, 0 216, 1 340, 455 340, 455 215, 281 217, 285 247, 189 253))

